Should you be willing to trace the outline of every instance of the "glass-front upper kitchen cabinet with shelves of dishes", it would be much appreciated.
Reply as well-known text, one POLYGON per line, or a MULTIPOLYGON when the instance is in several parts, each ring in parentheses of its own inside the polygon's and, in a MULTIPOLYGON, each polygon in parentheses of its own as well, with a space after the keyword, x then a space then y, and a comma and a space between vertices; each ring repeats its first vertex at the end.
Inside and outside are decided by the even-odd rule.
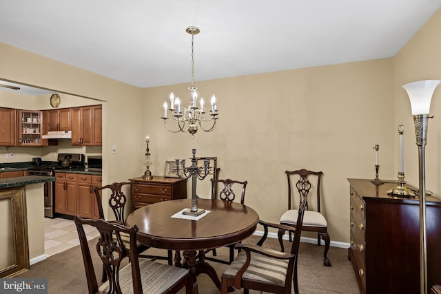
POLYGON ((20 146, 47 145, 47 140, 41 139, 43 112, 19 110, 19 122, 20 146))

